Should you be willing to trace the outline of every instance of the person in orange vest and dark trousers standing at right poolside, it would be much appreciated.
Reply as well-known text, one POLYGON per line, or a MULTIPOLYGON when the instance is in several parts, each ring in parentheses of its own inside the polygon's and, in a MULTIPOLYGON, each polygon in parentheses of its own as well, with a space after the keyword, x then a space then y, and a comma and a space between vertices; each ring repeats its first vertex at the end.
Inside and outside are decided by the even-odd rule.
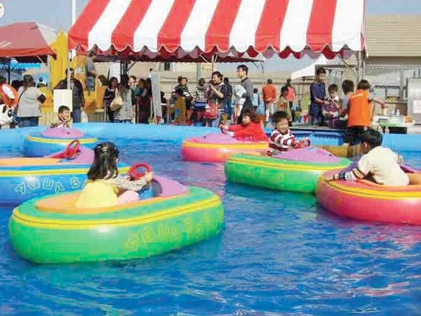
POLYGON ((373 103, 385 106, 382 100, 371 96, 370 88, 367 80, 361 80, 356 86, 356 93, 349 97, 348 128, 345 132, 344 145, 361 143, 362 133, 370 128, 373 120, 373 103))

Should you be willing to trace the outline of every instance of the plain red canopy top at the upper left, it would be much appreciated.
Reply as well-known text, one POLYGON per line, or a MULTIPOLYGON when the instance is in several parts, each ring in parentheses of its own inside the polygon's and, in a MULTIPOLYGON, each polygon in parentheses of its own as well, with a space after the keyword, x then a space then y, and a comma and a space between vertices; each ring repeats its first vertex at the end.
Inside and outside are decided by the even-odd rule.
POLYGON ((50 45, 57 38, 57 31, 36 22, 17 22, 0 27, 0 58, 20 61, 46 60, 55 56, 50 45))

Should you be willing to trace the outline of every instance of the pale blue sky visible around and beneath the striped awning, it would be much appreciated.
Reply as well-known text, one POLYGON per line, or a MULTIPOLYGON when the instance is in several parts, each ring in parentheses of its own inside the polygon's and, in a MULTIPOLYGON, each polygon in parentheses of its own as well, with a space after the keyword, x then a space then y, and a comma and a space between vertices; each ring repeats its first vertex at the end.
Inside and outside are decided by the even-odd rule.
MULTIPOLYGON (((368 14, 421 14, 421 0, 366 1, 368 14)), ((5 6, 5 15, 0 19, 0 25, 22 20, 35 20, 55 29, 67 31, 70 27, 71 0, 0 0, 0 2, 5 6)), ((78 12, 83 9, 87 2, 88 0, 76 0, 78 12)), ((309 60, 298 62, 294 58, 288 58, 288 60, 272 58, 266 63, 265 68, 271 70, 296 70, 305 67, 306 64, 309 64, 309 60)))

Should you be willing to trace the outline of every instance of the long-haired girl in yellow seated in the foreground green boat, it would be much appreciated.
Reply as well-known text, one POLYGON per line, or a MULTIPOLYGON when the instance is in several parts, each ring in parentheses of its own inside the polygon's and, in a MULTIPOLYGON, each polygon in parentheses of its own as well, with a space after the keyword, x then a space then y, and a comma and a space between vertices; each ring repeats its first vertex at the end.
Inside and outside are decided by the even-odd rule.
POLYGON ((95 158, 88 171, 88 180, 83 187, 78 208, 96 208, 125 204, 138 200, 138 191, 152 180, 152 172, 139 180, 119 177, 117 162, 119 150, 113 143, 100 143, 94 148, 95 158))

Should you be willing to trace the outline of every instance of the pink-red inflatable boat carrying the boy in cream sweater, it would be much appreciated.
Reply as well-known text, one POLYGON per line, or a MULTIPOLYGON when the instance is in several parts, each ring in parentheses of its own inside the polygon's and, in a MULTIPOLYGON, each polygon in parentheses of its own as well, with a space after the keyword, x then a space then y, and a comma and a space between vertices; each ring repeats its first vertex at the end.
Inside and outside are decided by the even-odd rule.
POLYGON ((329 181, 339 170, 329 171, 319 178, 317 200, 328 211, 356 220, 421 225, 421 171, 402 169, 410 179, 410 185, 403 187, 368 180, 329 181))

